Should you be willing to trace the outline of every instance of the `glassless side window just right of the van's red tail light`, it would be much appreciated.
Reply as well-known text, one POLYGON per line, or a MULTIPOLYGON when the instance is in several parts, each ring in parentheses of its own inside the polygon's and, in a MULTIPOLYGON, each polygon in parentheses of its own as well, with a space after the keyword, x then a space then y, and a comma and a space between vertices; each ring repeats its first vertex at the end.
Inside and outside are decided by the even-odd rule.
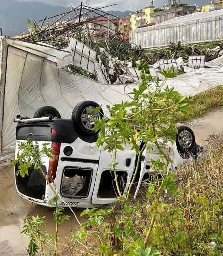
POLYGON ((66 167, 63 170, 61 194, 64 197, 86 198, 89 195, 92 169, 66 167))

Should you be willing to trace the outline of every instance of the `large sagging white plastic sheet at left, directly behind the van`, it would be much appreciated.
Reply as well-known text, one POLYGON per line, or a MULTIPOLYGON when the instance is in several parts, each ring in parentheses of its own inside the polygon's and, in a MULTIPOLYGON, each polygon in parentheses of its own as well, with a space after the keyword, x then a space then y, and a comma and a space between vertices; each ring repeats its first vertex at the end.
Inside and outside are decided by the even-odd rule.
MULTIPOLYGON (((90 78, 58 68, 55 62, 48 60, 47 55, 43 57, 42 52, 37 56, 37 52, 29 53, 23 46, 18 49, 18 44, 15 48, 14 40, 11 42, 4 39, 4 44, 8 49, 5 49, 7 50, 5 90, 1 83, 1 90, 5 93, 0 98, 0 103, 4 106, 4 112, 1 111, 3 113, 0 116, 1 120, 4 119, 0 123, 3 152, 14 150, 16 124, 13 123, 13 119, 16 114, 32 117, 39 107, 53 106, 60 112, 62 118, 71 118, 74 106, 81 101, 94 100, 103 106, 120 101, 120 93, 90 78), (13 46, 10 45, 11 43, 13 46)), ((28 48, 30 44, 24 44, 26 49, 30 50, 28 48)), ((5 51, 0 52, 4 54, 5 51)), ((61 54, 61 51, 58 52, 61 54)), ((66 58, 63 61, 65 62, 66 58)), ((2 75, 4 71, 1 72, 2 75)), ((129 97, 124 94, 122 99, 127 100, 129 97)), ((106 110, 105 107, 104 109, 106 110)))

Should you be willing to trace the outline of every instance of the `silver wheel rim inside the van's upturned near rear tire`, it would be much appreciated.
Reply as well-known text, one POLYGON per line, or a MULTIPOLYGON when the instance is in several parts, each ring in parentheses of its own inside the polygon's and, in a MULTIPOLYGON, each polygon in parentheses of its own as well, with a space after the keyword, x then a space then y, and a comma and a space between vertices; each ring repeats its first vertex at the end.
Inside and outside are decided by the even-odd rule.
POLYGON ((81 122, 83 126, 89 130, 92 131, 95 126, 95 122, 93 121, 94 119, 101 119, 100 113, 99 112, 92 112, 88 113, 90 109, 95 109, 95 107, 86 107, 82 113, 81 113, 81 122))

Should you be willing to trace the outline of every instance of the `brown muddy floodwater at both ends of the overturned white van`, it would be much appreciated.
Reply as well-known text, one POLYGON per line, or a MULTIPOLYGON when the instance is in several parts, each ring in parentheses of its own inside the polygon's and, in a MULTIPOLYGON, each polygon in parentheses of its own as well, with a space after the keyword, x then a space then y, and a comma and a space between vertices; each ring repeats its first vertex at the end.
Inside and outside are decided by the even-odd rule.
MULTIPOLYGON (((193 120, 189 126, 195 133, 196 142, 205 147, 214 134, 223 134, 223 109, 210 112, 204 118, 193 120)), ((75 209, 77 216, 82 210, 75 209)), ((0 256, 26 255, 28 237, 20 234, 25 214, 46 216, 48 225, 44 229, 54 234, 55 224, 52 213, 53 209, 32 204, 18 196, 13 169, 7 165, 0 168, 0 256)), ((71 217, 60 227, 60 237, 70 237, 77 226, 69 209, 66 209, 65 213, 71 217)), ((83 221, 83 218, 79 220, 83 221)))

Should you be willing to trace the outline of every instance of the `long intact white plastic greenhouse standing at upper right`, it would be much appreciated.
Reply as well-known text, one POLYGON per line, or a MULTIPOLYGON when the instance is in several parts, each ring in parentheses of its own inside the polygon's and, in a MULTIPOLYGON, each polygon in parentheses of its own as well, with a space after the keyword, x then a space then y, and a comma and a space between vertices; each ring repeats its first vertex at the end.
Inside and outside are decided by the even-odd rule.
POLYGON ((143 48, 167 46, 170 42, 195 43, 223 38, 223 9, 196 12, 130 31, 132 43, 143 48))

